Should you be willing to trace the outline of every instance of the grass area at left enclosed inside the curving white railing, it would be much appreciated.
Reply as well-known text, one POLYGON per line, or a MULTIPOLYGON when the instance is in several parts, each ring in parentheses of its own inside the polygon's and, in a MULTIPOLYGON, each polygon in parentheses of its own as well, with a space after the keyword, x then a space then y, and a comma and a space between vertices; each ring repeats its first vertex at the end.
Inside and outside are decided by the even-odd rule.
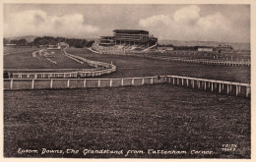
MULTIPOLYGON (((32 49, 32 48, 31 48, 32 49)), ((29 50, 29 49, 27 49, 29 50)), ((17 48, 19 52, 19 48, 17 48)), ((4 55, 4 69, 90 69, 88 64, 79 64, 78 62, 62 55, 60 51, 54 51, 55 54, 49 56, 49 59, 57 64, 50 62, 43 56, 32 57, 32 51, 13 53, 4 55)))

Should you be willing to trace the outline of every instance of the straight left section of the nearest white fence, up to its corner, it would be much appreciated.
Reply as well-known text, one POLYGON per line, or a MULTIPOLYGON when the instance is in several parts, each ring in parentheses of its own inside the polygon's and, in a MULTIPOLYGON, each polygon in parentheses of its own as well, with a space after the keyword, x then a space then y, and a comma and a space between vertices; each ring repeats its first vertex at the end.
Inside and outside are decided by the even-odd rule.
POLYGON ((79 87, 112 87, 142 85, 165 82, 165 77, 124 78, 124 79, 7 79, 5 90, 45 89, 45 88, 79 88, 79 87))

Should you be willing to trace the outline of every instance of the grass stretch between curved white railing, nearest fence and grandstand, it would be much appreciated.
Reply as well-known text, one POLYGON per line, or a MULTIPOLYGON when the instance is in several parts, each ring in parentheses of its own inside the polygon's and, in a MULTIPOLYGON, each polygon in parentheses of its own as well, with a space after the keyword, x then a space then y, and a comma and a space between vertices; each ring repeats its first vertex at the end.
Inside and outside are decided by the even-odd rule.
POLYGON ((146 59, 135 56, 100 55, 87 49, 78 48, 70 48, 67 52, 86 57, 90 60, 106 63, 112 62, 117 67, 116 72, 102 76, 102 78, 176 75, 219 81, 250 82, 250 69, 248 67, 209 66, 146 59))

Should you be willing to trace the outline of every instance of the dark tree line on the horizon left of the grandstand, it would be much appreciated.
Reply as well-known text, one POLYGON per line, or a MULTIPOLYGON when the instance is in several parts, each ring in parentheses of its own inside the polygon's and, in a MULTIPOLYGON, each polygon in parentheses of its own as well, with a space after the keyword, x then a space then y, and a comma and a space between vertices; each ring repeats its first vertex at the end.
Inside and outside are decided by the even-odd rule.
POLYGON ((71 47, 83 48, 83 47, 92 47, 95 40, 86 40, 78 38, 65 38, 65 37, 53 37, 53 36, 43 36, 36 37, 32 42, 28 42, 25 38, 22 39, 7 39, 4 38, 4 45, 6 44, 16 44, 17 46, 38 46, 38 45, 56 45, 59 42, 65 42, 71 47))

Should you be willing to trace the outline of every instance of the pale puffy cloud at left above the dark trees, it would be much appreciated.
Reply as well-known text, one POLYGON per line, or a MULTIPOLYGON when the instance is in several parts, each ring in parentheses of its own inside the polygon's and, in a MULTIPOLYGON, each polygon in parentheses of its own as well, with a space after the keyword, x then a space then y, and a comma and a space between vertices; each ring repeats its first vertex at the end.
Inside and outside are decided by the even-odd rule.
POLYGON ((29 10, 12 14, 4 24, 5 36, 59 35, 86 36, 99 27, 85 24, 82 14, 63 16, 48 15, 41 10, 29 10))

